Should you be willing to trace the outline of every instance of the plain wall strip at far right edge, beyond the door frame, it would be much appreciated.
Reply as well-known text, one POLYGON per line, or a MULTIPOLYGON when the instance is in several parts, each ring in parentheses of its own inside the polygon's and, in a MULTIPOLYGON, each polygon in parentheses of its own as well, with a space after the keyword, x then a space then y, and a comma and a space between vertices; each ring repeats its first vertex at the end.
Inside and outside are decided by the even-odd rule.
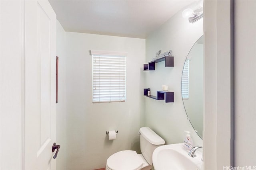
MULTIPOLYGON (((235 166, 256 166, 256 1, 235 1, 235 166)), ((255 168, 255 167, 254 167, 255 168)))

